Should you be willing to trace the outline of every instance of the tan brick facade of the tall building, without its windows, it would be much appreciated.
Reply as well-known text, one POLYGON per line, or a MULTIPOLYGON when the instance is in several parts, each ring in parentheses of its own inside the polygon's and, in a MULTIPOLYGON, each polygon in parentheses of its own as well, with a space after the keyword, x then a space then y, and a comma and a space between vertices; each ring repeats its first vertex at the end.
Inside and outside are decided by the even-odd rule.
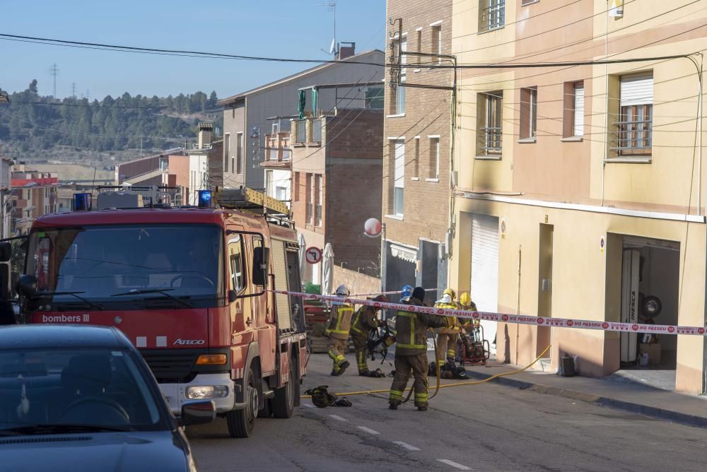
MULTIPOLYGON (((452 1, 425 0, 388 0, 387 18, 393 25, 388 25, 386 62, 396 60, 397 38, 402 32, 407 39, 407 52, 428 54, 450 54, 452 41, 452 1), (397 19, 402 19, 402 27, 397 19), (439 28, 439 30, 438 30, 439 28), (438 32, 441 33, 438 48, 438 32), (391 45, 393 47, 391 47, 391 45)), ((407 55, 405 80, 410 85, 432 85, 449 87, 453 82, 451 69, 429 69, 425 65, 440 59, 407 55)), ((445 59, 441 59, 446 64, 445 59)), ((448 61, 448 60, 447 60, 448 61)), ((449 62, 449 64, 451 64, 449 62)), ((431 88, 404 87, 404 114, 397 110, 399 87, 391 87, 391 69, 386 74, 385 89, 385 131, 383 141, 383 223, 386 225, 388 242, 421 248, 421 239, 443 242, 448 231, 450 206, 450 129, 451 100, 450 90, 431 88), (419 136, 419 137, 418 137, 419 136), (437 137, 431 137, 437 136, 437 137), (404 203, 402 216, 394 213, 395 187, 395 142, 393 138, 404 138, 404 203), (439 141, 438 170, 434 141, 439 141)), ((414 251, 414 249, 411 249, 414 251)), ((421 252, 421 249, 419 249, 421 252)), ((390 249, 387 250, 390 258, 390 249)), ((417 259, 421 256, 418 254, 417 259)), ((407 261, 407 264, 411 264, 407 261)), ((419 265, 419 264, 418 264, 419 265)), ((440 267, 444 264, 440 261, 440 267)), ((423 274, 415 272, 416 280, 409 280, 409 270, 405 275, 395 264, 389 265, 387 281, 398 285, 421 283, 423 274)), ((418 268, 419 269, 419 268, 418 268)), ((441 276, 440 272, 440 276, 441 276)), ((444 274, 443 280, 446 275, 444 274)), ((390 287, 390 289, 395 287, 390 287)))

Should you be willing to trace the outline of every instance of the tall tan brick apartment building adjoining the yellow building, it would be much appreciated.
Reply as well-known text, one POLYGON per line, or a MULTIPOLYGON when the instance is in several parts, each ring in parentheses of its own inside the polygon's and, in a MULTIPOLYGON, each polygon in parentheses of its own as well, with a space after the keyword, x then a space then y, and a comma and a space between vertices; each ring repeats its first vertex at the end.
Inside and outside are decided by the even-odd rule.
POLYGON ((388 0, 382 223, 385 290, 447 285, 452 1, 388 0))

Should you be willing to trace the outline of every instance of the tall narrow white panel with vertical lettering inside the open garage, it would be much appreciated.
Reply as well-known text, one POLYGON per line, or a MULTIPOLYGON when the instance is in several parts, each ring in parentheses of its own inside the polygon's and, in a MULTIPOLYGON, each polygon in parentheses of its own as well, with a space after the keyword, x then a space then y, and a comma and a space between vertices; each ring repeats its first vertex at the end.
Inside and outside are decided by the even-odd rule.
MULTIPOLYGON (((621 322, 638 322, 638 283, 641 275, 641 252, 624 249, 621 267, 621 322)), ((621 333, 621 362, 636 362, 638 334, 621 333)))

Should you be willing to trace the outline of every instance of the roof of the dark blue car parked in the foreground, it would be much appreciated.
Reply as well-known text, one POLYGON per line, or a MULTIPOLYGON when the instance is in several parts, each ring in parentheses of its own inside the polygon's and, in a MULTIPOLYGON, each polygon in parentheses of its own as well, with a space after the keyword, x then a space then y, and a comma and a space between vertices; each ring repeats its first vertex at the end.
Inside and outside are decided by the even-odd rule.
POLYGON ((0 350, 40 348, 131 348, 120 332, 109 326, 21 324, 0 326, 0 350))

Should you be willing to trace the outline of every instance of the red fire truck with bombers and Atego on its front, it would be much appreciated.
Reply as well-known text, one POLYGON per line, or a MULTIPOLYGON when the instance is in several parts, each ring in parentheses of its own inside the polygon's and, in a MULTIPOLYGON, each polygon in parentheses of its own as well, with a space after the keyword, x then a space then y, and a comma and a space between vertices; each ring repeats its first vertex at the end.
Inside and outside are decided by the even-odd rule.
POLYGON ((116 326, 175 414, 210 399, 248 437, 258 415, 289 418, 300 401, 302 302, 270 291, 300 290, 297 235, 285 203, 259 192, 213 201, 38 218, 17 288, 27 322, 116 326))

